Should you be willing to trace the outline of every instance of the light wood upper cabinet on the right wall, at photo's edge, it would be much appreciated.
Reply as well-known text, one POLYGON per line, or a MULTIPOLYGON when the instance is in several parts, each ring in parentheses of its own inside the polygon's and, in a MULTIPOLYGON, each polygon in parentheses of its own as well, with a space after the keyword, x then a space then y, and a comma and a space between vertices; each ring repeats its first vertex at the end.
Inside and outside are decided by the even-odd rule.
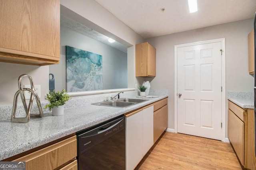
POLYGON ((249 74, 254 74, 254 31, 248 34, 249 74))

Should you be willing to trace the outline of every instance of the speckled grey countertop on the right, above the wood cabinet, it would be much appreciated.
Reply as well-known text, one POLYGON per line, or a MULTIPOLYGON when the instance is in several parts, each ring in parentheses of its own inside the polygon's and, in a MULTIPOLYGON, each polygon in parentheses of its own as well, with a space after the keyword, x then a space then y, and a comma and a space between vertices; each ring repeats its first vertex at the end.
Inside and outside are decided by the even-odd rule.
POLYGON ((228 92, 228 100, 247 109, 254 109, 253 92, 228 92))

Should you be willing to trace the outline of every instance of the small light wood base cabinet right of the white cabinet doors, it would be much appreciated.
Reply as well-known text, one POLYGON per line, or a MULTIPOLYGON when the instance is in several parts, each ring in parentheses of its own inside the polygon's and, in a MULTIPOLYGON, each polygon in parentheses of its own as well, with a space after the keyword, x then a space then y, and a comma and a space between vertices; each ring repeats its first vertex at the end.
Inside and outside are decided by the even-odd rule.
POLYGON ((154 104, 154 143, 162 135, 168 126, 167 98, 154 104))

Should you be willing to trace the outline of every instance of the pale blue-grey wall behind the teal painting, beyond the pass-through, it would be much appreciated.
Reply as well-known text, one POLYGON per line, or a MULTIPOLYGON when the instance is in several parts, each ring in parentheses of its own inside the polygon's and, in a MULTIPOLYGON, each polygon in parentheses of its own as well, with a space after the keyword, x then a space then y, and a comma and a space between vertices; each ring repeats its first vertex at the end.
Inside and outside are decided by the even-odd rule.
POLYGON ((66 88, 66 45, 102 55, 103 90, 127 88, 126 53, 61 25, 60 64, 49 66, 50 73, 54 74, 56 90, 66 88))

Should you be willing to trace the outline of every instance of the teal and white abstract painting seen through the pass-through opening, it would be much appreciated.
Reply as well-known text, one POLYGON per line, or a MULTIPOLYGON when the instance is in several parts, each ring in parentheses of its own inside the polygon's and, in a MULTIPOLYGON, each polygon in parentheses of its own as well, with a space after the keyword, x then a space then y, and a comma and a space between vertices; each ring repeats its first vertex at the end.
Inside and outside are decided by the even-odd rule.
POLYGON ((68 92, 102 90, 102 55, 66 46, 68 92))

